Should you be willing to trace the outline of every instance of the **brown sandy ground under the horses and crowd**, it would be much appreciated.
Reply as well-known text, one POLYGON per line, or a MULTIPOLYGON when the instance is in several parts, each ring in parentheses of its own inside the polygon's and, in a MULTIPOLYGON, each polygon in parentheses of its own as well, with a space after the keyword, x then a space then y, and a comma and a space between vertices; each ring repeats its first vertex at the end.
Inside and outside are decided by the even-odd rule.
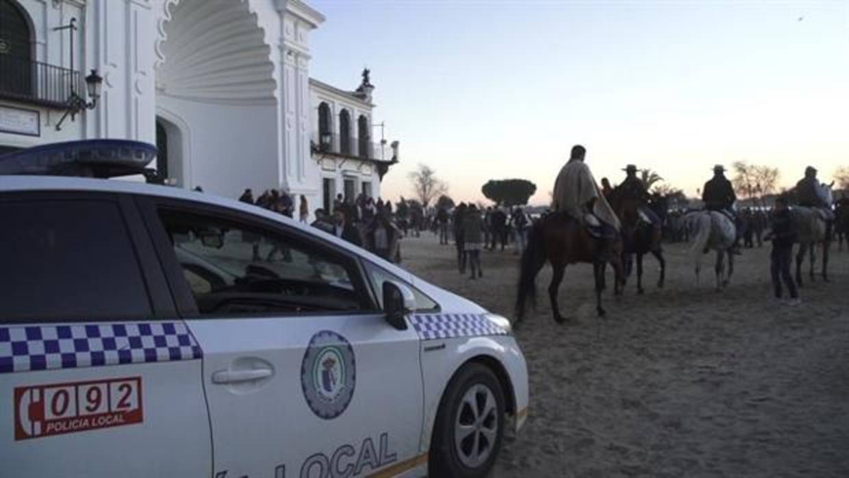
MULTIPOLYGON (((484 251, 475 281, 430 233, 402 252, 414 273, 511 317, 512 251, 484 251)), ((530 415, 495 477, 849 476, 849 253, 833 252, 832 282, 787 307, 772 300, 767 245, 745 250, 722 293, 710 268, 694 284, 685 252, 666 247, 663 290, 647 257, 646 294, 633 280, 621 300, 606 294, 601 320, 591 269, 568 267, 561 307, 580 321, 568 326, 551 319, 543 269, 539 308, 516 331, 530 415)))

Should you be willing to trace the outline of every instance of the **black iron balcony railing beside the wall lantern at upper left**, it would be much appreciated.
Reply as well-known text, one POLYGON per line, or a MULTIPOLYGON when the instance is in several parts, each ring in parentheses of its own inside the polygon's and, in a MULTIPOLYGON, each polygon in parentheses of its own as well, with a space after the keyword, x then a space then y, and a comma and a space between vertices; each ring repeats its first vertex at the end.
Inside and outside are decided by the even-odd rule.
POLYGON ((86 92, 79 71, 0 54, 0 98, 61 108, 73 92, 86 92))

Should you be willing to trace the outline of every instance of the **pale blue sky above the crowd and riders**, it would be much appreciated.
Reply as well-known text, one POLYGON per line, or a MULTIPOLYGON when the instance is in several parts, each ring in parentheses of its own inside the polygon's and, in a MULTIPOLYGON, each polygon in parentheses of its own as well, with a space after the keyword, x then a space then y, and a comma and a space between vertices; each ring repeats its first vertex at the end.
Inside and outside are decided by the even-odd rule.
MULTIPOLYGON (((381 195, 436 170, 457 201, 489 179, 549 201, 576 143, 597 180, 650 168, 694 195, 712 166, 849 166, 849 0, 308 0, 310 76, 354 89, 401 143, 381 195)), ((374 132, 380 138, 380 128, 374 132)))

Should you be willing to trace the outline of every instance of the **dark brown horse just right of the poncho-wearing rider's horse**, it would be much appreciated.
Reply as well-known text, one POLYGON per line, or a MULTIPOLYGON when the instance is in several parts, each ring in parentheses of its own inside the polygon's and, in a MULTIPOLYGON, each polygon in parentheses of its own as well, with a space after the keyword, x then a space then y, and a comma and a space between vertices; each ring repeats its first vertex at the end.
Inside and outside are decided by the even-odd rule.
MULTIPOLYGON (((658 201, 657 204, 665 204, 658 201)), ((622 261, 625 264, 626 277, 631 275, 631 256, 637 256, 637 293, 645 293, 643 289, 643 256, 651 253, 661 264, 661 277, 657 280, 657 288, 663 289, 666 278, 666 259, 663 257, 663 229, 649 222, 640 212, 640 201, 626 198, 617 186, 610 194, 610 205, 619 221, 622 223, 623 251, 622 261)), ((655 211, 656 214, 656 211, 655 211)), ((665 216, 665 214, 664 214, 665 216)))

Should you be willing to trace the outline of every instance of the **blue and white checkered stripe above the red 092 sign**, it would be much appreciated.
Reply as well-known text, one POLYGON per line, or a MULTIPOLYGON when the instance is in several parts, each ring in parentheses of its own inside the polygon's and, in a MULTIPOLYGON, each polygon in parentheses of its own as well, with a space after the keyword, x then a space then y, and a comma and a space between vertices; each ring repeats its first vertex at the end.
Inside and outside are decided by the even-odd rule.
POLYGON ((182 322, 0 326, 0 374, 194 360, 202 355, 182 322))

